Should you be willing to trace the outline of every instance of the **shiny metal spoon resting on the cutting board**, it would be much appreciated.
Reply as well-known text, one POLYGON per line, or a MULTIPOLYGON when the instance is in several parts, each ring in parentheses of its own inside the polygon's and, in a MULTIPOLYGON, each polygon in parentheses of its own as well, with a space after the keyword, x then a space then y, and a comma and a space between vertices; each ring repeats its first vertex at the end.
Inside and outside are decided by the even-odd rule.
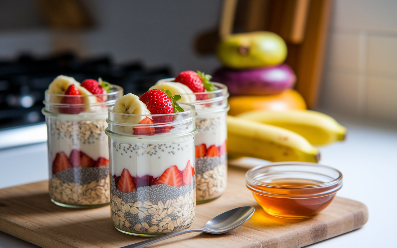
POLYGON ((254 211, 255 209, 249 206, 235 208, 214 217, 213 219, 205 223, 202 228, 185 229, 179 232, 170 233, 168 235, 164 235, 156 238, 150 238, 148 240, 144 240, 135 244, 129 244, 121 248, 141 248, 149 244, 158 242, 160 240, 171 238, 184 233, 192 233, 192 232, 203 232, 203 233, 212 233, 212 234, 226 233, 232 229, 235 229, 236 227, 247 221, 254 214, 254 211))

